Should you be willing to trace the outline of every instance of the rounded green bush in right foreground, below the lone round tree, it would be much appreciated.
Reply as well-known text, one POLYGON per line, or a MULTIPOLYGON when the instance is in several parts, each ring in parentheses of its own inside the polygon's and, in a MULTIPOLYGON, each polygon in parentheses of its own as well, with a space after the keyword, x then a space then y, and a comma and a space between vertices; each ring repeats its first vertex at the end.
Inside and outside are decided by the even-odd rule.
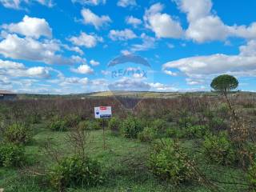
POLYGON ((221 132, 218 136, 209 134, 206 136, 202 148, 203 154, 210 162, 231 165, 237 161, 233 143, 230 142, 226 132, 221 132))

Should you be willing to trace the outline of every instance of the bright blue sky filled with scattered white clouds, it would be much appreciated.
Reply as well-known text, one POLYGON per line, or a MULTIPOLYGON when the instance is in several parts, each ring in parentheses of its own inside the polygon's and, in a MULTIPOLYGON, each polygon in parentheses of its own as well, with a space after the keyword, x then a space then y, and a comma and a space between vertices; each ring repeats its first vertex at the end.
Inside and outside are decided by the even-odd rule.
POLYGON ((255 0, 0 0, 0 90, 209 91, 231 74, 256 91, 255 10, 255 0), (128 62, 110 66, 116 58, 128 62))

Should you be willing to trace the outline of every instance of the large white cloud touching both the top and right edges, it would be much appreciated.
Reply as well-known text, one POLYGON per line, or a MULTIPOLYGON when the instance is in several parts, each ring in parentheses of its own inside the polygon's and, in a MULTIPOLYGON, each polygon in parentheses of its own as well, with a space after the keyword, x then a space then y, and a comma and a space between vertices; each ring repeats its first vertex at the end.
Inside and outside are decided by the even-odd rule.
POLYGON ((256 22, 250 26, 227 26, 222 19, 211 12, 211 0, 175 0, 182 12, 186 13, 189 27, 186 38, 195 42, 208 42, 229 37, 256 38, 256 22))

